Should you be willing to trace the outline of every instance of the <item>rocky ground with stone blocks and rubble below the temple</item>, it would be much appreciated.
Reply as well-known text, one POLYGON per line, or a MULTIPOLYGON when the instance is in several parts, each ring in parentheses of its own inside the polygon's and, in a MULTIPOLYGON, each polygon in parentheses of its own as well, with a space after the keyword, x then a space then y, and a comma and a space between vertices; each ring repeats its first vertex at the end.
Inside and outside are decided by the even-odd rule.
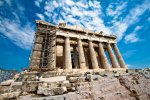
POLYGON ((22 73, 2 82, 0 99, 150 100, 150 69, 84 74, 22 73))

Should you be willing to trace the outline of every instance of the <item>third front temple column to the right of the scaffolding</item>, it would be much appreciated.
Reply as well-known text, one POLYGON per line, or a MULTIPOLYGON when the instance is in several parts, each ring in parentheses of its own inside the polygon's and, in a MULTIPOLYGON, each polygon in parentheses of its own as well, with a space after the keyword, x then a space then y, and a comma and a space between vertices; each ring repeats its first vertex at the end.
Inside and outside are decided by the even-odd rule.
POLYGON ((93 67, 93 69, 98 69, 99 66, 98 66, 98 62, 97 62, 97 58, 96 58, 96 54, 95 54, 95 50, 94 50, 92 41, 89 41, 89 51, 90 51, 92 67, 93 67))

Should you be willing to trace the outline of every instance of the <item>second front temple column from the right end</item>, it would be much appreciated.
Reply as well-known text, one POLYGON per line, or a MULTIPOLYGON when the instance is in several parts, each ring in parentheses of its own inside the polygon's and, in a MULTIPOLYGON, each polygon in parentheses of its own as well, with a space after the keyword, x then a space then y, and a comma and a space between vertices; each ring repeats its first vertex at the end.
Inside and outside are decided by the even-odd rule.
POLYGON ((109 43, 107 43, 107 49, 108 49, 108 54, 109 54, 109 57, 110 57, 110 61, 111 61, 111 64, 112 64, 112 67, 113 68, 118 68, 119 65, 118 65, 118 62, 117 62, 117 59, 112 51, 112 48, 110 46, 109 43))

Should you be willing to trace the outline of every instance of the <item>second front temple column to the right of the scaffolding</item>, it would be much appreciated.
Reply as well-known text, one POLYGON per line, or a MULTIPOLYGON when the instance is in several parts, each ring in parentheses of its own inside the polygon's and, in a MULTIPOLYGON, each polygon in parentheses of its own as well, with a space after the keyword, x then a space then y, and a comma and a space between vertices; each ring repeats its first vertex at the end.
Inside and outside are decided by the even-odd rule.
POLYGON ((86 69, 85 56, 81 39, 78 39, 78 52, 80 69, 86 69))

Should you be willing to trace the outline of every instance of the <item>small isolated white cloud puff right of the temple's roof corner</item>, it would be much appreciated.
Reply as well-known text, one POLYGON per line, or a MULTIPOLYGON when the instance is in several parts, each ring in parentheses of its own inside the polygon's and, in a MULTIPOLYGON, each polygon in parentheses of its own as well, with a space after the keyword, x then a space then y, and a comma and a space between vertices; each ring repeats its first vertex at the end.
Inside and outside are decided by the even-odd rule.
POLYGON ((131 33, 125 36, 125 43, 134 43, 139 41, 139 38, 135 33, 131 33))

